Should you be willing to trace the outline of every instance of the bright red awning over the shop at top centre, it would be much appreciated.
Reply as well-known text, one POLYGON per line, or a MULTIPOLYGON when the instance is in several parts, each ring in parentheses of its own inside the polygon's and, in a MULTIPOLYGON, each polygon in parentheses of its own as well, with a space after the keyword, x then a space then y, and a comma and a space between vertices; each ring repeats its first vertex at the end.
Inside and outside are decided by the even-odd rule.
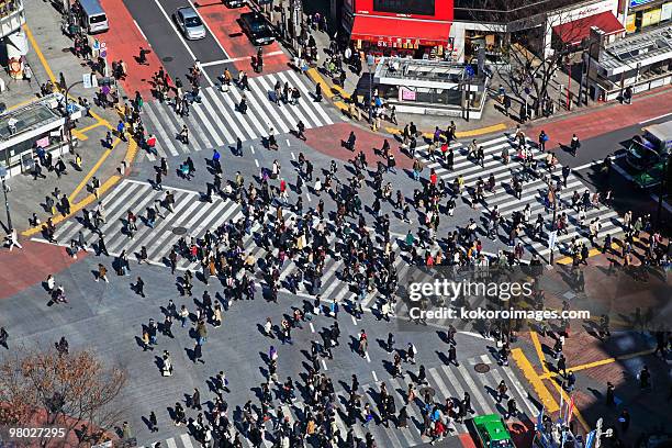
POLYGON ((446 47, 449 34, 449 22, 356 15, 350 40, 396 48, 414 48, 419 45, 446 47))

